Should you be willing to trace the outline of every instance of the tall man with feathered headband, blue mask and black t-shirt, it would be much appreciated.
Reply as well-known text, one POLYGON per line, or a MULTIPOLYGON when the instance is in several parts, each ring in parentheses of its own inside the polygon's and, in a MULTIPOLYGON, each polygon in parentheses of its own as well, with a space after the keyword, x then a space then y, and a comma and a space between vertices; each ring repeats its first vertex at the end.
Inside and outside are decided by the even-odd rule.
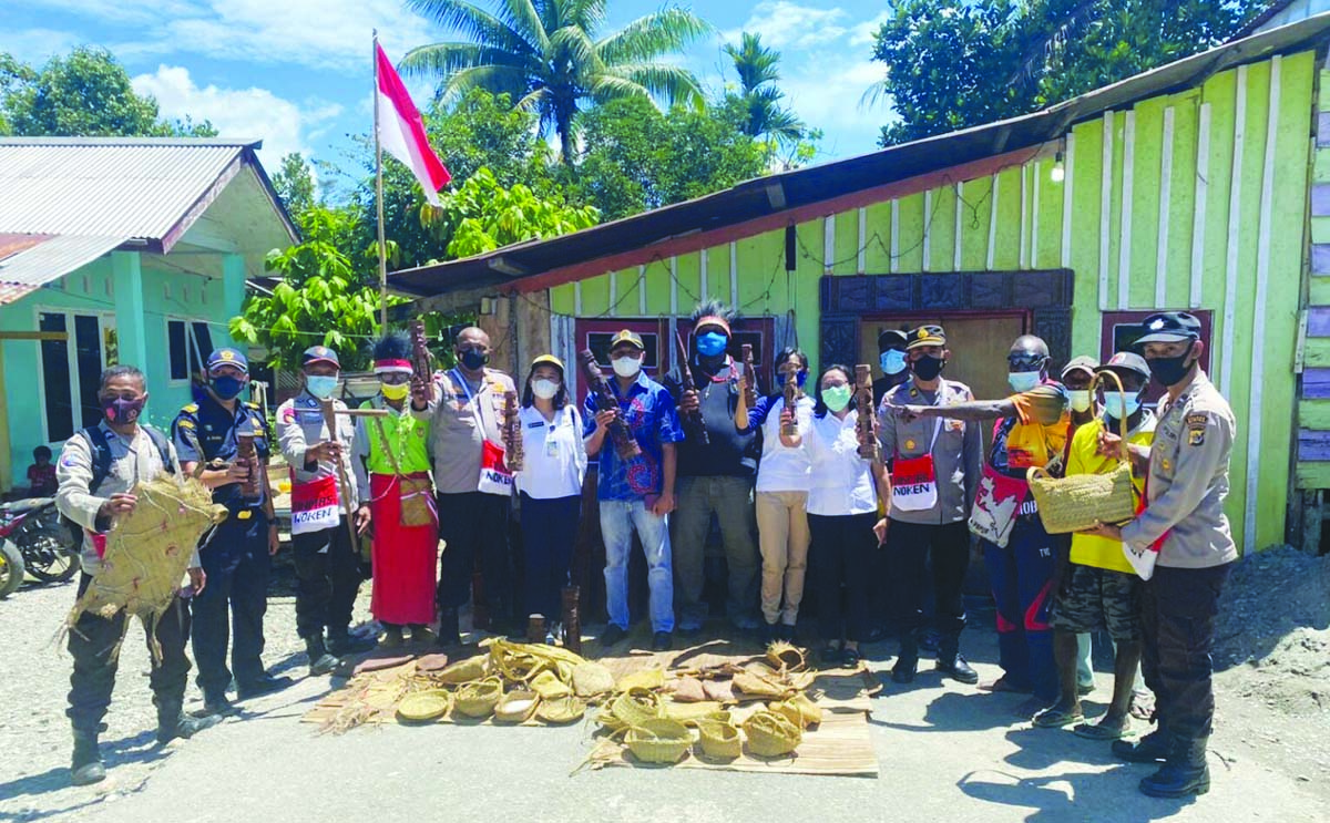
POLYGON ((741 435, 734 427, 738 402, 735 363, 730 347, 730 322, 734 311, 718 300, 705 300, 693 312, 693 346, 689 367, 696 391, 685 392, 677 380, 665 386, 678 402, 680 417, 701 411, 706 443, 685 424, 684 441, 678 444, 677 508, 670 515, 674 560, 674 605, 681 634, 696 633, 706 620, 702 602, 705 582, 706 534, 714 512, 725 544, 729 568, 726 613, 739 629, 758 626, 757 601, 758 552, 754 533, 753 481, 757 457, 754 435, 741 435))

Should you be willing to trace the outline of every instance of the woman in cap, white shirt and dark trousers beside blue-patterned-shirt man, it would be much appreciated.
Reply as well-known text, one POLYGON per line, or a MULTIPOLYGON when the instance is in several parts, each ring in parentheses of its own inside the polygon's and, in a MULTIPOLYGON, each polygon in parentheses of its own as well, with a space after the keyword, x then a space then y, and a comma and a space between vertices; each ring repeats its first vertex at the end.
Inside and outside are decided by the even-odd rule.
POLYGON ((513 472, 521 495, 521 537, 525 554, 525 605, 541 614, 557 637, 561 593, 568 585, 587 448, 581 415, 568 402, 564 364, 553 355, 531 362, 521 396, 521 471, 513 472))

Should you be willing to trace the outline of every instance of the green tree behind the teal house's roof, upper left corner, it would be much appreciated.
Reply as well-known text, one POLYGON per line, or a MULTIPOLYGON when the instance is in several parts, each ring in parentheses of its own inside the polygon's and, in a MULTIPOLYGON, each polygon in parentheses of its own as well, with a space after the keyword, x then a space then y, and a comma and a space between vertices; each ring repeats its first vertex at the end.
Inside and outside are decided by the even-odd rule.
POLYGON ((40 70, 0 56, 0 122, 17 136, 215 137, 206 120, 168 122, 106 49, 80 47, 40 70))

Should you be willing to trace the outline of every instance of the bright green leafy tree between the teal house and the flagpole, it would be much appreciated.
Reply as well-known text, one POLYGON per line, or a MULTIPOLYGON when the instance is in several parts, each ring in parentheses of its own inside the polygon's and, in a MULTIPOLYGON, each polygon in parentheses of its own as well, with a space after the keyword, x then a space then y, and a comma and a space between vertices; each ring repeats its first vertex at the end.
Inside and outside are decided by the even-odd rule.
POLYGON ((245 300, 231 338, 267 348, 267 363, 279 370, 299 368, 301 352, 317 344, 335 350, 344 371, 364 368, 379 331, 379 290, 364 283, 366 255, 346 251, 355 219, 325 206, 301 214, 305 242, 269 253, 267 270, 281 281, 271 295, 245 300))

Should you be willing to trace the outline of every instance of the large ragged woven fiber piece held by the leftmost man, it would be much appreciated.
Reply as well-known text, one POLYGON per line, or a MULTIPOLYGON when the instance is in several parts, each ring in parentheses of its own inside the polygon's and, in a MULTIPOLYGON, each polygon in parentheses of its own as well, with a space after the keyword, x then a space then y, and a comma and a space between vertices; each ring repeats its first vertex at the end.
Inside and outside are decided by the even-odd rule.
MULTIPOLYGON (((164 475, 138 484, 133 493, 138 504, 106 534, 101 569, 74 604, 66 626, 77 630, 84 612, 108 620, 128 612, 142 621, 153 657, 160 659, 157 618, 174 600, 198 538, 226 520, 226 507, 215 505, 213 492, 192 477, 164 475)), ((116 644, 113 654, 118 653, 116 644)))

